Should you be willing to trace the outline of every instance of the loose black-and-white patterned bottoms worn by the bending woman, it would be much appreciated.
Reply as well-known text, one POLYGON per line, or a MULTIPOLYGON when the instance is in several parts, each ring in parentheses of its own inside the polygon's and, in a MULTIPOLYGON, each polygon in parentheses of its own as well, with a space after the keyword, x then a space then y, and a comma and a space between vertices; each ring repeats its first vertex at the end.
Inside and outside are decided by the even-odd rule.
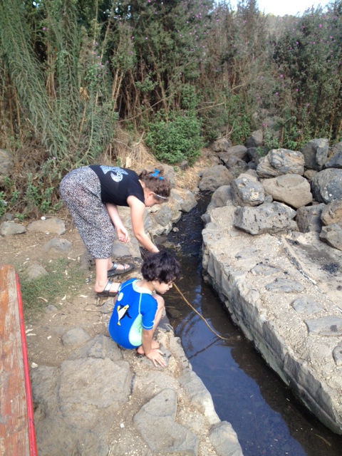
POLYGON ((115 228, 101 201, 98 176, 88 166, 68 173, 59 187, 81 239, 92 258, 110 258, 115 228))

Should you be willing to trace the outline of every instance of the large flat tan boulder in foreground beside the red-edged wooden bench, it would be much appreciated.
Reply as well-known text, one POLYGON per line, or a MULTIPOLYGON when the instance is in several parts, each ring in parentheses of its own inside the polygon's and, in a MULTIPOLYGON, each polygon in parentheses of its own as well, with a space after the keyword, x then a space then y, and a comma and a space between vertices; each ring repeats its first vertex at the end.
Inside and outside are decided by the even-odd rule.
POLYGON ((131 378, 127 361, 109 358, 33 369, 39 455, 108 455, 108 429, 128 403, 131 378))

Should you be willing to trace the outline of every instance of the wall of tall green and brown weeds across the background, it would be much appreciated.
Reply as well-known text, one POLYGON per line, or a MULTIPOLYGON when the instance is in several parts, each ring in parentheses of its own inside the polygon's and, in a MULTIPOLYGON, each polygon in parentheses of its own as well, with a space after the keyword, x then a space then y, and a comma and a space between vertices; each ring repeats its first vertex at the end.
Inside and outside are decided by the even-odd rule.
POLYGON ((0 212, 56 209, 68 170, 107 151, 115 160, 118 123, 169 162, 255 128, 270 147, 341 139, 341 0, 273 34, 256 0, 237 11, 223 0, 0 5, 0 147, 16 169, 0 212))

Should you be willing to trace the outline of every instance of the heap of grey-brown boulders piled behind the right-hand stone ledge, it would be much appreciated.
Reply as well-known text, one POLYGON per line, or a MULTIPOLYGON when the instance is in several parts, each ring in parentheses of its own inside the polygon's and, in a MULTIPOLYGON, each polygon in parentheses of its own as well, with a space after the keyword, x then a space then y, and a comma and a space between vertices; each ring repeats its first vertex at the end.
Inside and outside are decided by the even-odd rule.
POLYGON ((230 185, 234 226, 249 234, 318 232, 342 250, 342 142, 329 147, 316 139, 299 151, 280 148, 259 157, 261 137, 255 132, 250 147, 215 142, 217 165, 203 171, 199 189, 230 185))

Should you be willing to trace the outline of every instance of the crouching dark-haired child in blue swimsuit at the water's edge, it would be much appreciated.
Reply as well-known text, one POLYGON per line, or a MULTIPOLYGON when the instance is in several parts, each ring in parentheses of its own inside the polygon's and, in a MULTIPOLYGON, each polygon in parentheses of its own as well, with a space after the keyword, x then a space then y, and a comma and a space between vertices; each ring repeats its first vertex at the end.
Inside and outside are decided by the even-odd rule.
POLYGON ((142 280, 130 279, 120 285, 108 330, 121 347, 137 348, 155 366, 165 366, 153 334, 164 310, 164 299, 159 294, 170 290, 172 283, 180 278, 180 264, 162 250, 145 259, 141 273, 142 280))

